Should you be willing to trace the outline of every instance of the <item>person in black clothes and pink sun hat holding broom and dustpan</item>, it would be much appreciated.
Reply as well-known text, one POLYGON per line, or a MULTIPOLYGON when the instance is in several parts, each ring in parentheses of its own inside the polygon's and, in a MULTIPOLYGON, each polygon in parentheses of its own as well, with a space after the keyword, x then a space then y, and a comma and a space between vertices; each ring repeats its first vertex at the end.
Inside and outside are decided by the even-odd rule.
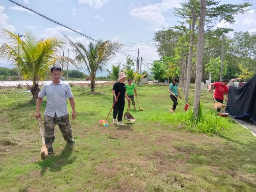
POLYGON ((129 97, 125 94, 125 77, 126 75, 123 72, 120 72, 118 74, 118 81, 114 83, 112 93, 113 93, 113 102, 116 101, 116 104, 114 105, 114 111, 113 111, 113 123, 117 125, 124 125, 122 123, 122 117, 124 113, 124 98, 127 98, 128 102, 130 101, 129 97), (117 99, 117 95, 120 92, 120 95, 117 99), (116 121, 117 117, 117 121, 116 121))

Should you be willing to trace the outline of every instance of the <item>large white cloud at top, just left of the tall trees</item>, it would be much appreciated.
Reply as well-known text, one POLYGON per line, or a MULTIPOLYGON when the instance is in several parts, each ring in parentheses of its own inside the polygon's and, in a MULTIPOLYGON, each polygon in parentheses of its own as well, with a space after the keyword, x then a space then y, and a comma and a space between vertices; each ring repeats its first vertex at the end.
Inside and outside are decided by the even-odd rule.
POLYGON ((135 18, 148 21, 152 24, 151 29, 157 31, 168 26, 163 12, 169 11, 174 7, 180 7, 181 2, 181 0, 162 0, 161 3, 149 3, 144 7, 132 8, 130 14, 135 18))

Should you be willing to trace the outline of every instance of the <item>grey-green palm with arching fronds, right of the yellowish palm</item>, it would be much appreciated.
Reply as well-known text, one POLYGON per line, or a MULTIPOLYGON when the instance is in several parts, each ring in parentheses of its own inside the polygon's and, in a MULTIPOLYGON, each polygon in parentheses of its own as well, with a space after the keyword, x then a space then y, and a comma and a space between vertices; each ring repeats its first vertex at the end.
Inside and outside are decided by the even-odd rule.
POLYGON ((90 42, 89 48, 86 49, 80 42, 71 41, 66 35, 73 51, 76 54, 75 60, 78 62, 80 69, 87 70, 91 76, 91 93, 95 92, 95 77, 96 73, 106 69, 108 61, 116 56, 116 52, 122 48, 118 41, 98 41, 97 43, 90 42))

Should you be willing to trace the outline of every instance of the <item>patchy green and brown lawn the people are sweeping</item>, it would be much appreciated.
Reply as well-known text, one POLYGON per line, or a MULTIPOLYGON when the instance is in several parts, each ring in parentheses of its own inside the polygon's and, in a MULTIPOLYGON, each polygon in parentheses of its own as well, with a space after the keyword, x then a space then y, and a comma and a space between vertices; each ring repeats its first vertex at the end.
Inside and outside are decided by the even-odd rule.
MULTIPOLYGON (((111 89, 97 86, 106 94, 91 95, 88 86, 72 87, 78 147, 66 145, 56 127, 55 154, 45 161, 31 94, 0 90, 0 191, 256 191, 256 137, 247 129, 230 119, 230 128, 210 136, 182 122, 152 121, 184 113, 181 103, 169 112, 168 87, 158 85, 138 87, 144 111, 130 111, 134 123, 118 127, 110 116, 104 128, 98 121, 112 105, 111 89)), ((202 100, 204 112, 211 110, 211 95, 203 91, 202 100)))

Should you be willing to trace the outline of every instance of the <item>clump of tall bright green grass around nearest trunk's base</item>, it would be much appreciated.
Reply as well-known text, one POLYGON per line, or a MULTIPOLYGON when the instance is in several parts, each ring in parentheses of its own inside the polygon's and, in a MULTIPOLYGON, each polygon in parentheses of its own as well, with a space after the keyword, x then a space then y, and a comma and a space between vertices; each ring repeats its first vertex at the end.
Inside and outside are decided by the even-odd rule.
POLYGON ((158 116, 150 117, 149 120, 151 123, 160 122, 173 126, 189 125, 208 135, 220 133, 231 127, 229 118, 218 116, 215 110, 204 110, 203 103, 200 103, 199 113, 196 118, 193 110, 189 109, 187 112, 161 113, 158 116))

